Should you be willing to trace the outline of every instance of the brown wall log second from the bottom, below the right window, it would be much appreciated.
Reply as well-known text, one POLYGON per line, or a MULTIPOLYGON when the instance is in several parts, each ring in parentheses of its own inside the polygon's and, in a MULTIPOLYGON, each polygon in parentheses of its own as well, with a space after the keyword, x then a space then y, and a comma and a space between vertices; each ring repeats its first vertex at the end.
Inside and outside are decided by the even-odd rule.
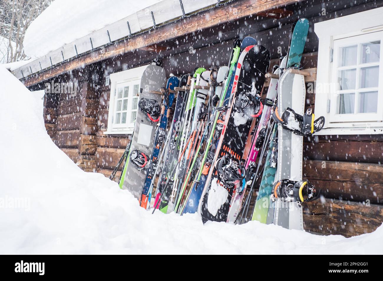
POLYGON ((383 166, 379 164, 304 161, 303 177, 327 198, 383 204, 383 166))

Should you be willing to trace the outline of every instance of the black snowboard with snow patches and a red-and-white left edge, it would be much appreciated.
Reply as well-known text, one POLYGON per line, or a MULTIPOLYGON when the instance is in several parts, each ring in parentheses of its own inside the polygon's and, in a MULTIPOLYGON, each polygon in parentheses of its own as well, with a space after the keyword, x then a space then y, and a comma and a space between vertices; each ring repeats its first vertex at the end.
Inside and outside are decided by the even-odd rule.
POLYGON ((214 168, 209 172, 206 192, 200 203, 203 223, 208 220, 226 222, 232 195, 242 185, 242 156, 252 119, 262 112, 262 103, 257 104, 257 113, 253 112, 254 108, 245 109, 249 112, 245 111, 240 104, 245 103, 245 96, 251 99, 261 92, 269 64, 270 53, 262 45, 247 47, 238 60, 231 94, 231 110, 226 114, 226 124, 214 156, 214 168), (233 107, 234 104, 236 106, 233 107))

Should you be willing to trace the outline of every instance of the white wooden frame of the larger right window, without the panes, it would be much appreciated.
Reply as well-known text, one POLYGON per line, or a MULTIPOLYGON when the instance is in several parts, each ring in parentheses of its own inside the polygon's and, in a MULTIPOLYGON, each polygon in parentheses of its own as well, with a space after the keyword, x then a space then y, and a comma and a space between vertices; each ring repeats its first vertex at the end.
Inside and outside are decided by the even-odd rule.
MULTIPOLYGON (((383 38, 383 8, 342 16, 314 25, 319 37, 318 73, 316 80, 315 115, 326 119, 324 129, 316 135, 356 135, 383 133, 383 58, 379 63, 378 110, 374 114, 337 114, 337 79, 339 49, 383 38), (371 39, 371 40, 369 40, 371 39), (343 115, 343 116, 342 116, 343 115)), ((383 39, 380 54, 383 54, 383 39)), ((359 59, 359 58, 358 58, 359 59)), ((357 82, 358 83, 358 82, 357 82)), ((355 103, 357 104, 355 97, 355 103)))

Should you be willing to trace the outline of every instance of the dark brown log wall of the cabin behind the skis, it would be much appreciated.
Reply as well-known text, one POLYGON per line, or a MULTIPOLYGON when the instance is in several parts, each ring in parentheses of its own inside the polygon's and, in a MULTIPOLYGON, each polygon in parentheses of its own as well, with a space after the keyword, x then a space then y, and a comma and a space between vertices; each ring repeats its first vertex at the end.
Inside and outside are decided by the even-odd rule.
MULTIPOLYGON (((54 78, 57 82, 78 81, 79 96, 45 96, 47 132, 80 168, 109 176, 129 144, 130 136, 104 134, 110 96, 110 86, 105 86, 106 76, 144 65, 153 58, 160 58, 166 73, 174 75, 190 73, 200 66, 226 65, 232 42, 238 34, 241 37, 253 36, 259 44, 267 47, 273 58, 272 67, 281 55, 286 54, 291 26, 300 15, 306 16, 311 24, 302 66, 316 67, 318 38, 313 30, 314 23, 379 6, 383 6, 383 1, 300 2, 286 6, 287 11, 293 11, 289 17, 270 19, 253 15, 172 41, 159 42, 163 49, 160 53, 136 50, 57 76, 54 78), (326 15, 322 14, 323 8, 326 15)), ((307 89, 315 88, 313 86, 313 83, 306 84, 307 89)), ((41 87, 43 83, 33 88, 41 87)), ((315 93, 308 91, 306 107, 314 107, 314 102, 315 93)), ((304 205, 306 231, 350 237, 372 232, 381 224, 382 146, 383 137, 378 135, 314 136, 304 139, 304 177, 324 191, 321 200, 304 205)), ((119 174, 120 171, 115 180, 119 174)), ((251 200, 249 214, 255 198, 256 193, 251 200)))

